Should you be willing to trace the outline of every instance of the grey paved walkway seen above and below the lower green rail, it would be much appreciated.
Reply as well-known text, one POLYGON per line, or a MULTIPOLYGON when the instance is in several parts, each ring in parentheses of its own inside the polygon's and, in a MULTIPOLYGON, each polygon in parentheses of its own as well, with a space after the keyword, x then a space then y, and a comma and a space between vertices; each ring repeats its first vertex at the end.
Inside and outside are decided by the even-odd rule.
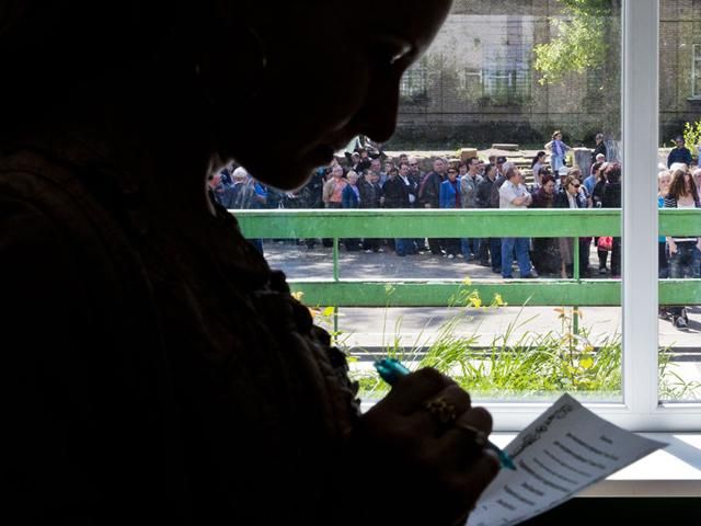
MULTIPOLYGON (((265 241, 265 256, 274 268, 283 270, 290 279, 333 277, 332 249, 317 244, 313 249, 290 241, 265 241)), ((399 258, 386 249, 383 253, 340 251, 340 276, 378 281, 383 278, 443 278, 490 279, 502 277, 491 268, 457 258, 412 255, 399 258)), ((591 251, 591 265, 598 267, 596 253, 591 251)), ((598 277, 598 276, 596 276, 598 277)), ((608 275, 602 276, 607 278, 608 275)), ((548 277, 543 277, 548 279, 548 277)), ((516 342, 526 333, 543 334, 549 331, 566 332, 560 312, 553 307, 508 306, 499 309, 462 309, 464 316, 456 323, 455 334, 474 339, 474 346, 489 346, 494 339, 510 333, 516 342)), ((585 328, 594 345, 620 334, 622 319, 620 307, 585 307, 579 325, 585 328)), ((372 353, 397 343, 405 350, 429 345, 439 334, 440 327, 455 319, 457 309, 432 308, 341 308, 338 329, 343 331, 344 345, 356 348, 361 357, 356 366, 370 366, 367 359, 372 353), (367 353, 370 354, 367 354, 367 353), (363 356, 366 359, 363 359, 363 356)), ((679 331, 667 320, 659 320, 659 345, 675 352, 675 373, 687 381, 701 381, 701 306, 689 309, 689 329, 679 331)))

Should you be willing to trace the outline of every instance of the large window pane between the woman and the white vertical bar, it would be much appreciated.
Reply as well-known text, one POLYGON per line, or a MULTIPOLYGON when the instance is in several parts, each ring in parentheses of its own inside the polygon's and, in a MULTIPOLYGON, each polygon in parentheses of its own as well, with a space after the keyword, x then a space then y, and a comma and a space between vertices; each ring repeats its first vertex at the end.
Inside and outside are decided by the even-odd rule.
MULTIPOLYGON (((389 216, 380 226, 370 217, 378 213, 346 219, 342 226, 367 226, 338 236, 335 264, 329 233, 264 241, 272 266, 297 282, 308 305, 320 304, 318 322, 342 332, 365 399, 384 388, 372 359, 395 354, 448 371, 478 400, 563 391, 621 400, 620 238, 597 248, 620 232, 620 184, 604 199, 604 184, 597 193, 596 176, 588 179, 596 153, 620 161, 620 1, 455 2, 402 79, 392 139, 359 138, 340 152, 345 170, 369 168, 368 183, 383 185, 382 201, 358 191, 360 210, 350 211, 372 203, 389 216), (353 158, 361 146, 370 160, 353 158), (407 182, 398 174, 403 155, 407 182), (484 173, 490 164, 499 184, 513 164, 522 185, 499 195, 484 173), (567 181, 573 168, 578 174, 567 181), (407 233, 363 236, 381 228, 407 233), (334 302, 337 318, 323 308, 334 302)), ((323 207, 327 172, 281 206, 323 207)), ((331 194, 326 209, 343 208, 331 194)))

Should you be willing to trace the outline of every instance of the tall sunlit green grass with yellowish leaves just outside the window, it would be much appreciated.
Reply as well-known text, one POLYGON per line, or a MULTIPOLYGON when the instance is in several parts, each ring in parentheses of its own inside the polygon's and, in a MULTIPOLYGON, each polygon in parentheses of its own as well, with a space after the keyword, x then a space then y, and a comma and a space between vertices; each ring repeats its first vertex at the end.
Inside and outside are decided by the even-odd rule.
MULTIPOLYGON (((482 305, 466 282, 449 306, 453 315, 438 328, 435 336, 421 333, 407 346, 401 344, 401 319, 391 333, 387 332, 386 309, 382 354, 404 362, 411 369, 435 367, 481 401, 552 400, 562 392, 576 392, 578 398, 587 400, 621 400, 621 334, 599 336, 595 342, 582 322, 583 312, 576 308, 555 309, 560 327, 545 333, 524 330, 536 317, 524 319, 521 308, 504 334, 495 336, 486 346, 479 344, 479 328, 467 335, 458 330, 471 320, 471 309, 498 309, 504 305, 498 295, 489 306, 482 305), (581 320, 576 331, 575 317, 581 320)), ((317 311, 317 322, 329 329, 331 318, 323 313, 317 311)), ((326 309, 325 313, 333 311, 326 309)), ((360 397, 364 400, 383 397, 388 386, 375 369, 358 367, 364 350, 345 346, 348 335, 342 331, 333 336, 350 357, 352 376, 360 385, 360 397)), ((685 380, 671 357, 669 348, 658 354, 660 399, 701 399, 701 382, 685 380)))

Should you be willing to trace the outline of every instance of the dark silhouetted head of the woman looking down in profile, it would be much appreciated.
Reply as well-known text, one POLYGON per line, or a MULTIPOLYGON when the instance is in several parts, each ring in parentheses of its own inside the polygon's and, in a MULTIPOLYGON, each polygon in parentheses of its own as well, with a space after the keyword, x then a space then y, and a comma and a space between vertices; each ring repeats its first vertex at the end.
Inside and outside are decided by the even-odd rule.
MULTIPOLYGON (((195 126, 223 163, 235 159, 279 187, 302 184, 357 135, 378 141, 392 135, 400 78, 450 7, 449 0, 380 0, 369 22, 347 24, 356 5, 344 0, 31 3, 12 21, 0 20, 5 78, 31 88, 38 78, 22 73, 36 69, 43 78, 60 77, 66 93, 89 82, 94 101, 125 107, 137 101, 150 110, 143 118, 159 115, 161 133, 179 123, 183 130, 195 126), (8 57, 16 58, 10 69, 8 57), (51 67, 60 57, 64 64, 51 67), (348 70, 353 82, 326 82, 348 70), (271 127, 271 116, 285 125, 271 127)), ((34 104, 39 91, 22 103, 34 104)), ((56 93, 45 98, 37 119, 66 104, 56 93)))

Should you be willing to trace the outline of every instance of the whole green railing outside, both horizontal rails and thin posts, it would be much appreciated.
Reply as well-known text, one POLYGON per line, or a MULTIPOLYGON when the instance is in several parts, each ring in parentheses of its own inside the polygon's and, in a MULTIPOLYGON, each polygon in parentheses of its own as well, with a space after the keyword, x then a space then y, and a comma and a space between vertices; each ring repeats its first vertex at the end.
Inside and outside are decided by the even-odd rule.
MULTIPOLYGON (((248 238, 333 238, 332 279, 290 279, 308 305, 439 307, 450 305, 457 279, 361 281, 341 277, 340 238, 579 238, 621 235, 619 209, 307 209, 231 210, 248 238)), ((664 209, 660 235, 698 236, 701 210, 664 209)), ((473 279, 483 298, 501 294, 509 305, 619 306, 619 279, 582 279, 578 242, 572 279, 473 279)), ((660 279, 660 305, 701 304, 701 279, 660 279)))

